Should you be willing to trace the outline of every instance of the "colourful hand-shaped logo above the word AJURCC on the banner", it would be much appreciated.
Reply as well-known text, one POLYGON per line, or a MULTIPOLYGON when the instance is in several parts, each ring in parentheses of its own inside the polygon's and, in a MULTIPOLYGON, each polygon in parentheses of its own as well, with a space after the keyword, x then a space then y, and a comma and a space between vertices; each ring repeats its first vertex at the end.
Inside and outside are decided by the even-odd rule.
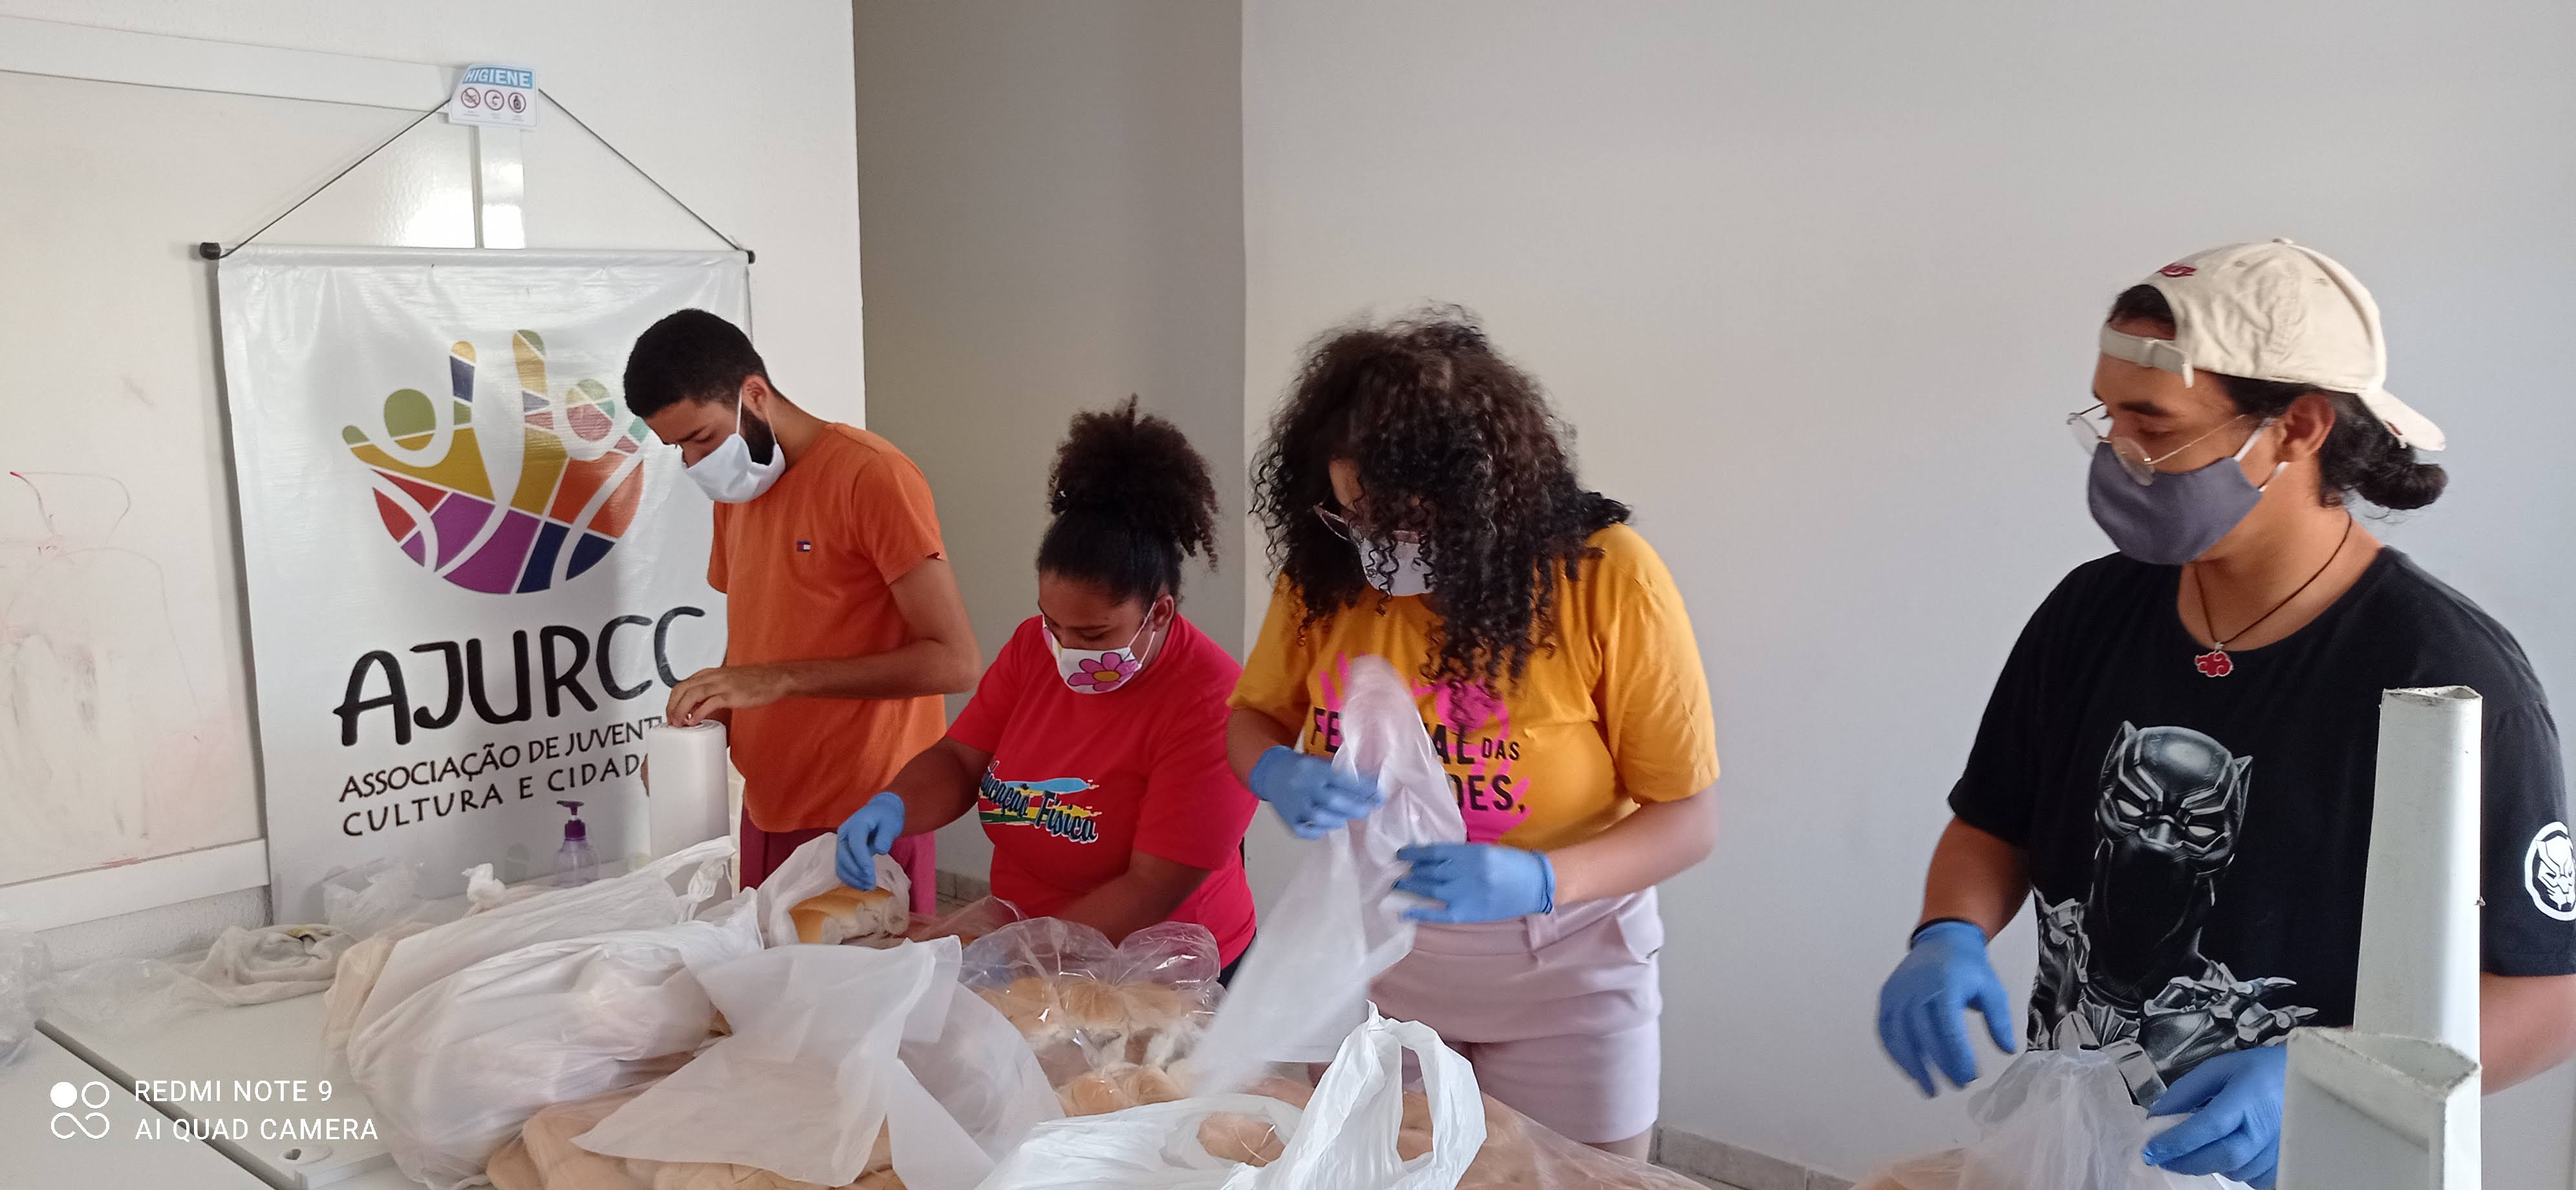
POLYGON ((448 392, 399 389, 384 399, 384 433, 340 430, 371 466, 384 531, 412 562, 482 592, 528 592, 598 567, 644 500, 641 420, 592 379, 562 394, 546 386, 546 340, 510 335, 520 425, 477 438, 474 345, 448 348, 448 392), (507 458, 518 456, 510 479, 507 458), (487 464, 502 464, 492 469, 487 464), (507 484, 510 492, 497 492, 507 484))

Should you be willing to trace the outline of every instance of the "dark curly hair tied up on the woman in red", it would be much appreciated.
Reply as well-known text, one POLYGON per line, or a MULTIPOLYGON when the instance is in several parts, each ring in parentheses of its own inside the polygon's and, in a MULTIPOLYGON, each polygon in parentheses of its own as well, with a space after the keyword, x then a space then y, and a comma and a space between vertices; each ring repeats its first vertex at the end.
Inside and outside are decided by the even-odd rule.
POLYGON ((1113 600, 1180 598, 1180 559, 1216 567, 1216 484, 1177 425, 1136 412, 1077 412, 1046 477, 1054 520, 1038 569, 1097 582, 1113 600))

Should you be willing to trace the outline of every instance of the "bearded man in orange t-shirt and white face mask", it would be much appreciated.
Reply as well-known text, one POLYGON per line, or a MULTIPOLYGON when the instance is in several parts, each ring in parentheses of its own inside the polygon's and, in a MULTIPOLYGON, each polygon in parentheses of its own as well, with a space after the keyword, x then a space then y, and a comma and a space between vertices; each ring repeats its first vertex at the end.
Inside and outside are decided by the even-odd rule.
MULTIPOLYGON (((940 695, 971 690, 981 657, 922 469, 791 404, 739 327, 703 309, 654 322, 626 355, 626 404, 716 500, 724 665, 675 685, 665 719, 726 724, 755 886, 940 739, 940 695)), ((930 837, 904 842, 894 860, 930 912, 930 837)))

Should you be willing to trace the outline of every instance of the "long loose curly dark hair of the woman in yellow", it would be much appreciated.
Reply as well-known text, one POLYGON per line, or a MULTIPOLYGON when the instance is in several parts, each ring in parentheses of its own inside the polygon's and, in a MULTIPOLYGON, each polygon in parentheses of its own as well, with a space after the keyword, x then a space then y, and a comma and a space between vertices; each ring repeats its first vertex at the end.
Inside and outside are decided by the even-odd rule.
POLYGON ((1340 458, 1360 471, 1370 531, 1422 538, 1440 608, 1422 677, 1497 693, 1520 683, 1530 657, 1556 647, 1561 585, 1600 556, 1592 533, 1628 520, 1628 505, 1574 479, 1569 435, 1538 381, 1463 309, 1316 337, 1252 469, 1270 562, 1303 598, 1303 628, 1368 592, 1358 551, 1316 515, 1337 507, 1340 458))

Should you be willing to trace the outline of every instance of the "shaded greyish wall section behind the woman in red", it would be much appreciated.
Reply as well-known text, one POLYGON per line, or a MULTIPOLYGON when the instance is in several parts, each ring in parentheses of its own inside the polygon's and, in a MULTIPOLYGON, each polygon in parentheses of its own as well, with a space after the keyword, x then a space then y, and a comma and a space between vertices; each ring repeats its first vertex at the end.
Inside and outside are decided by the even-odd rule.
MULTIPOLYGON (((930 474, 989 659, 1036 605, 1046 469, 1139 394, 1218 479, 1224 569, 1182 613, 1242 636, 1236 5, 860 0, 858 201, 876 430, 930 474)), ((1260 569, 1257 564, 1249 569, 1260 569)), ((940 865, 984 876, 974 819, 940 865)))

